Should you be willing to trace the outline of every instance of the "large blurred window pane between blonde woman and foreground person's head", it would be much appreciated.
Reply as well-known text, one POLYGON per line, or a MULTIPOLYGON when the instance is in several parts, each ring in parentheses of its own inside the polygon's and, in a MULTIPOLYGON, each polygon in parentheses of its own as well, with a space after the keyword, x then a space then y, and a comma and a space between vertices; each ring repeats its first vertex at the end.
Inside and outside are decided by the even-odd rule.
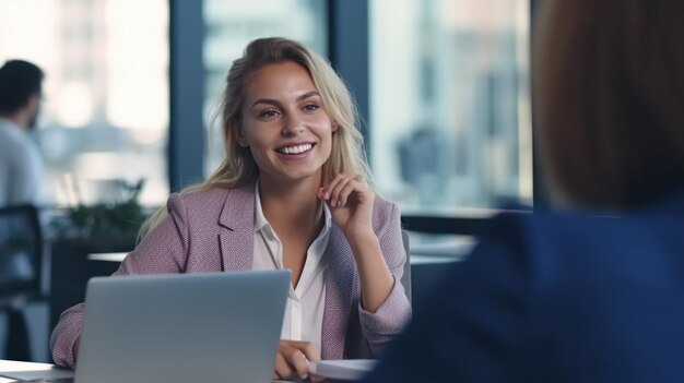
POLYGON ((530 202, 528 0, 370 0, 370 161, 404 213, 530 202))

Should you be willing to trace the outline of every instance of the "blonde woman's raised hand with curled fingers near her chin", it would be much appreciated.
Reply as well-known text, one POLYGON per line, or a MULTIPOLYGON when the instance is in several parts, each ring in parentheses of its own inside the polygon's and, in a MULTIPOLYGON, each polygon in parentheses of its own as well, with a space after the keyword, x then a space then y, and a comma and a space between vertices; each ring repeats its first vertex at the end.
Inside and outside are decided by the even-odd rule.
POLYGON ((361 176, 338 175, 318 190, 318 198, 328 204, 332 219, 347 240, 373 234, 375 193, 361 176))

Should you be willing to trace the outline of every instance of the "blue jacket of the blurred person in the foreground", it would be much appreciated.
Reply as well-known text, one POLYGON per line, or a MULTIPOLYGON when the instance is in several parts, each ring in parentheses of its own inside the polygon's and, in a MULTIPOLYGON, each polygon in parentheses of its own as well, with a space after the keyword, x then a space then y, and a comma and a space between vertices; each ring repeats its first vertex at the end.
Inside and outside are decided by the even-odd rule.
POLYGON ((494 218, 367 382, 684 382, 684 193, 494 218))

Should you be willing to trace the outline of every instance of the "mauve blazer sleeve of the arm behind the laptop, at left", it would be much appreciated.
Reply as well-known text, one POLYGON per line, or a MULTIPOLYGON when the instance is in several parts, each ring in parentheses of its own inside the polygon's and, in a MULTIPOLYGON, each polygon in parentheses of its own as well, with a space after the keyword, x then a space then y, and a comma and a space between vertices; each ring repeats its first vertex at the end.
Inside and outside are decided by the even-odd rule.
MULTIPOLYGON (((167 203, 169 215, 130 252, 113 275, 179 273, 188 253, 188 223, 182 198, 173 194, 167 203)), ((85 304, 67 309, 50 337, 57 366, 74 367, 73 346, 81 336, 85 304)))

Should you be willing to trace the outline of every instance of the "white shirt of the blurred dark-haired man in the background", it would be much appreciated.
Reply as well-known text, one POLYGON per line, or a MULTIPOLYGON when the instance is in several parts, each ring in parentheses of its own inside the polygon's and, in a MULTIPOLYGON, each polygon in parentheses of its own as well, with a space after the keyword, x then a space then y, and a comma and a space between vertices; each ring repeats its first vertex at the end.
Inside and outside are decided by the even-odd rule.
POLYGON ((43 196, 43 159, 36 142, 0 117, 0 207, 34 204, 43 196))

